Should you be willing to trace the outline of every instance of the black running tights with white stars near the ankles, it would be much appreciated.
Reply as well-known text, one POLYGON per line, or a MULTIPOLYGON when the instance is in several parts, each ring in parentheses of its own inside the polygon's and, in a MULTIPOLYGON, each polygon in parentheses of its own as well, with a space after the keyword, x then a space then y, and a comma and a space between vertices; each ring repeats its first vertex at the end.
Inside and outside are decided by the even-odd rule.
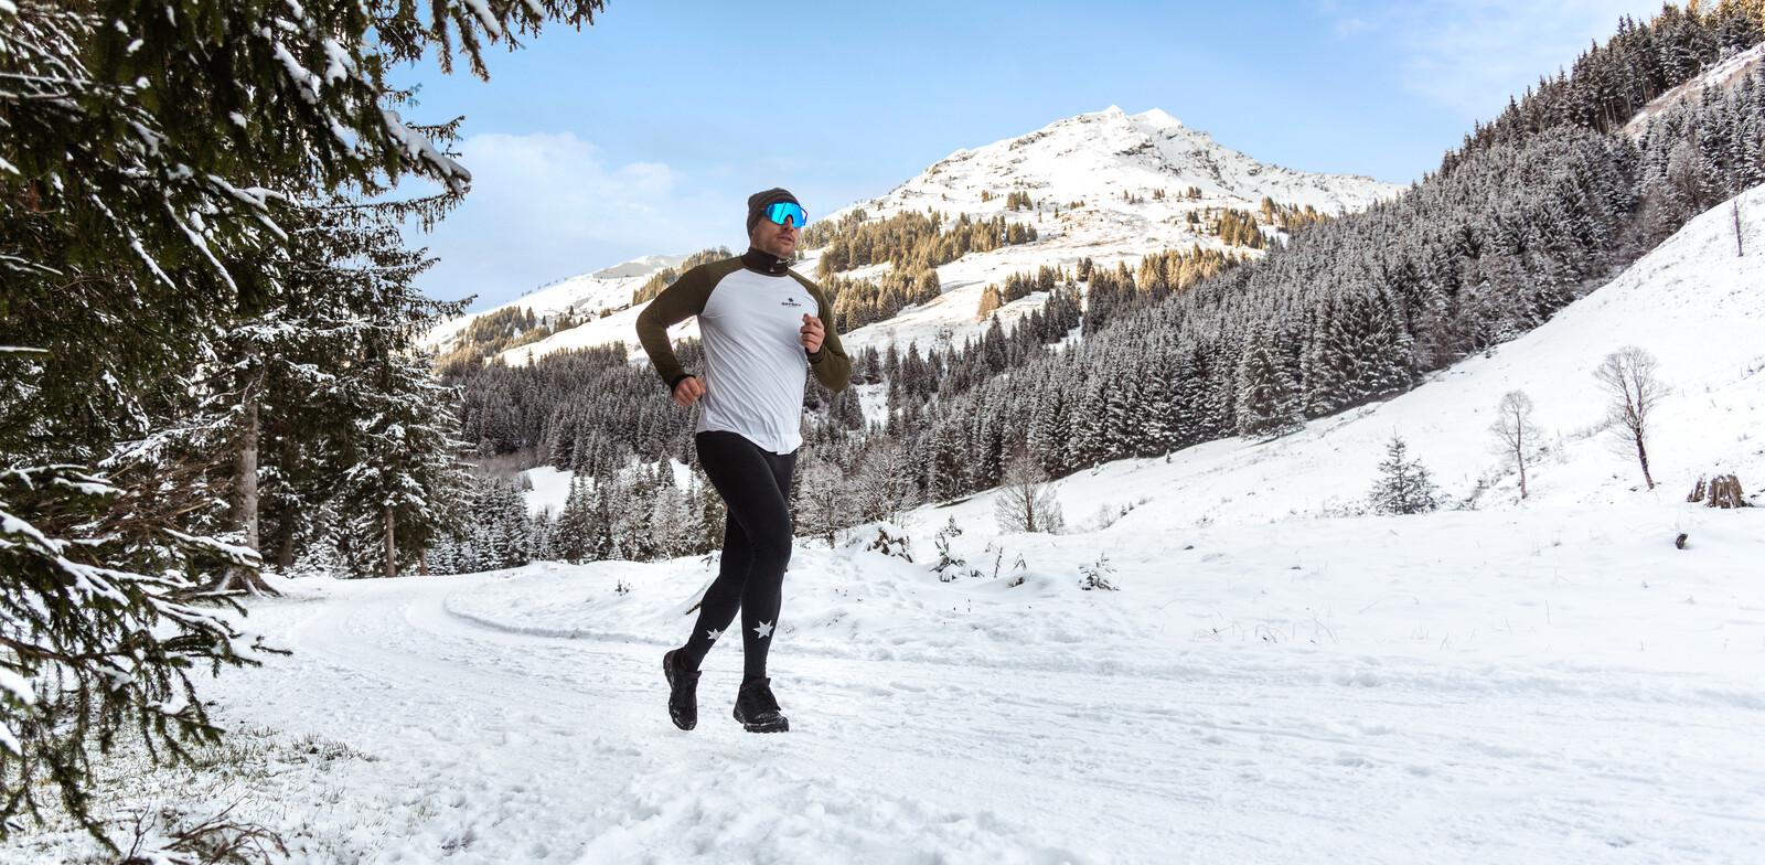
POLYGON ((784 568, 791 563, 791 473, 796 452, 773 454, 740 432, 706 431, 694 441, 699 466, 724 496, 729 524, 717 581, 699 604, 699 623, 680 653, 681 666, 699 669, 717 637, 741 611, 741 681, 766 678, 766 650, 778 627, 784 568))

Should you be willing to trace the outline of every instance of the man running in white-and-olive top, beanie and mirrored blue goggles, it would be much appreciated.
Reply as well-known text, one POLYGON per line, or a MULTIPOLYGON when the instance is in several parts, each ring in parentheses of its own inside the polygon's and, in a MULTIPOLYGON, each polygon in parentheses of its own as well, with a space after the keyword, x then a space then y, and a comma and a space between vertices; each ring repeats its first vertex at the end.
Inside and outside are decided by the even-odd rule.
POLYGON ((699 604, 687 644, 662 655, 669 717, 699 722, 699 664, 741 611, 743 678, 736 720, 748 733, 784 733, 766 678, 766 650, 778 627, 784 568, 791 561, 791 473, 803 443, 808 371, 844 390, 852 364, 826 321, 833 309, 814 282, 791 272, 808 217, 784 189, 748 196, 748 251, 695 267, 637 316, 637 339, 657 374, 690 408, 704 401, 694 443, 699 466, 729 507, 724 560, 699 604), (704 376, 681 369, 669 325, 699 316, 704 376))

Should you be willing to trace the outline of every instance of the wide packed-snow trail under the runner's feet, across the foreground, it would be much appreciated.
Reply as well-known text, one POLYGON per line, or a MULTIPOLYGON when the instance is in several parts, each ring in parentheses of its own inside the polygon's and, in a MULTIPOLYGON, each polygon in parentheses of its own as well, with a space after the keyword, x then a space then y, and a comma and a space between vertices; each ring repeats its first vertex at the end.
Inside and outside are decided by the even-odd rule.
POLYGON ((1765 745, 1737 736, 1765 697, 1733 681, 1158 643, 1144 667, 1073 673, 782 643, 789 734, 727 717, 727 648, 680 733, 660 643, 448 613, 496 583, 263 604, 251 625, 295 655, 222 681, 229 713, 371 757, 328 782, 374 800, 337 810, 374 816, 379 861, 1717 861, 1765 839, 1765 745))

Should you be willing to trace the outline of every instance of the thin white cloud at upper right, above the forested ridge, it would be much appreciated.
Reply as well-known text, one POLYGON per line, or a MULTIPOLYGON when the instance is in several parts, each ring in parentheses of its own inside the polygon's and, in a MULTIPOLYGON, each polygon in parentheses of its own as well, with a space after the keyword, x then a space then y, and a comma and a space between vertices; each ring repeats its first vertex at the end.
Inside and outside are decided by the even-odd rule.
POLYGON ((1405 58, 1405 86, 1468 118, 1490 120, 1539 76, 1567 69, 1619 18, 1647 19, 1645 0, 1447 0, 1424 4, 1322 0, 1341 39, 1389 41, 1405 58))

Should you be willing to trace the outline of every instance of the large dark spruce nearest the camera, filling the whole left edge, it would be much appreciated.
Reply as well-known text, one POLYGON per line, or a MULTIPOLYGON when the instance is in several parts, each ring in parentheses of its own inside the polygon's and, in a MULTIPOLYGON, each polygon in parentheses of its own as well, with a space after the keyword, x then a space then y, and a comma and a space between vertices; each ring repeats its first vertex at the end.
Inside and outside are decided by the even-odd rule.
POLYGON ((457 48, 484 74, 485 39, 598 7, 0 4, 0 835, 60 796, 109 846, 94 747, 217 733, 184 673, 242 655, 180 598, 256 554, 212 538, 226 466, 201 461, 187 394, 235 362, 221 332, 286 242, 277 180, 462 189, 383 104, 390 64, 438 46, 447 71, 457 48))

